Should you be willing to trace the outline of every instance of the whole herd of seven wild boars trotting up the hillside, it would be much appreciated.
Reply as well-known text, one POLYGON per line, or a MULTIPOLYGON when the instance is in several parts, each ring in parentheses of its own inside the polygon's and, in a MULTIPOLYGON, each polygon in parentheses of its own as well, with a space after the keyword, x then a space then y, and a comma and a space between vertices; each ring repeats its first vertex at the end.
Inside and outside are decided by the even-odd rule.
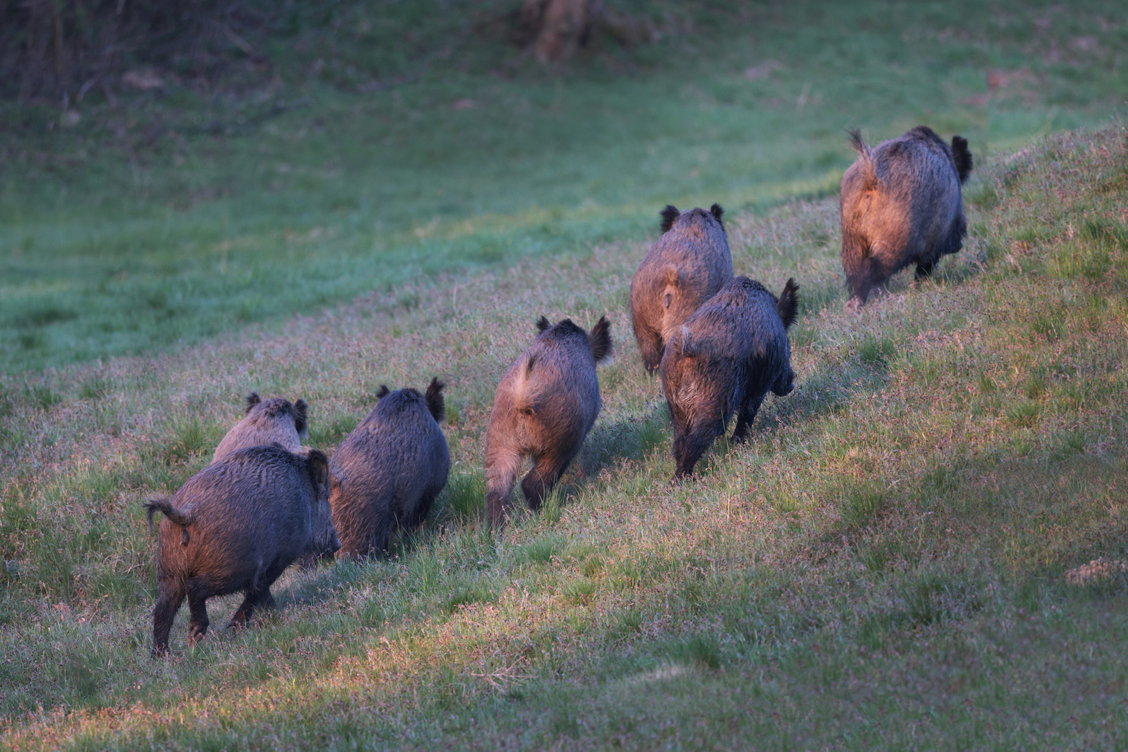
MULTIPOLYGON (((971 172, 968 143, 945 143, 925 126, 870 148, 851 133, 858 158, 841 179, 841 260, 847 306, 909 264, 927 276, 967 235, 961 185, 971 172)), ((795 387, 787 329, 799 315, 793 278, 776 297, 734 276, 723 210, 661 212, 661 237, 631 282, 631 322, 645 369, 658 372, 673 433, 673 481, 694 471, 737 416, 732 441, 748 437, 770 391, 795 387)), ((510 365, 494 395, 485 435, 486 515, 504 524, 521 481, 530 510, 575 459, 601 409, 597 365, 611 357, 606 317, 585 330, 545 317, 538 335, 510 365)), ((272 607, 270 587, 282 572, 317 558, 379 556, 396 530, 426 519, 447 484, 450 452, 439 424, 444 384, 425 393, 381 387, 377 404, 332 457, 301 445, 308 407, 301 399, 247 397, 244 417, 220 442, 212 462, 170 498, 146 504, 158 533, 153 655, 186 598, 188 645, 208 630, 205 601, 241 592, 230 626, 272 607)))

